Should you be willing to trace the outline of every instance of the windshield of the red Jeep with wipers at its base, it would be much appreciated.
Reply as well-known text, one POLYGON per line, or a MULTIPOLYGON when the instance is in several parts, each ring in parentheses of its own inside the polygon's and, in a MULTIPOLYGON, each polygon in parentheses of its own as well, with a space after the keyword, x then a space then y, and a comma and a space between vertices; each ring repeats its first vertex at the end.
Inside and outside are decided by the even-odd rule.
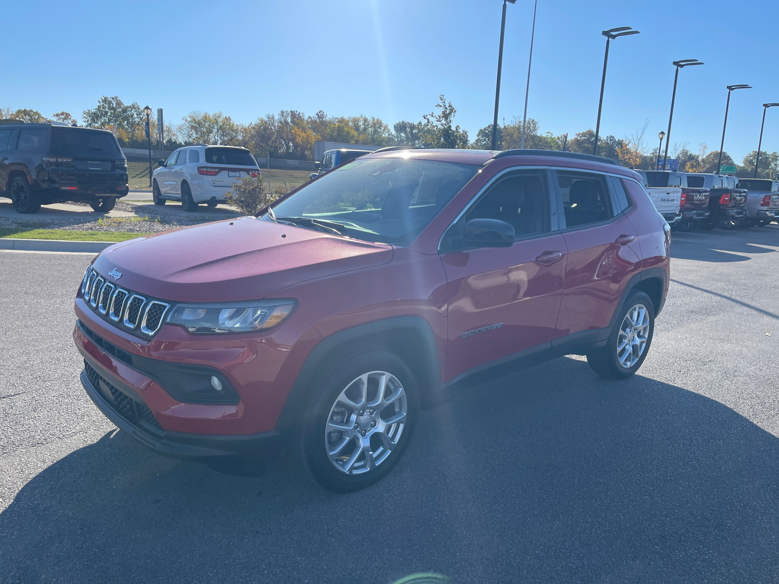
POLYGON ((273 212, 279 219, 326 221, 365 241, 408 245, 477 171, 438 160, 360 158, 305 185, 273 212))

